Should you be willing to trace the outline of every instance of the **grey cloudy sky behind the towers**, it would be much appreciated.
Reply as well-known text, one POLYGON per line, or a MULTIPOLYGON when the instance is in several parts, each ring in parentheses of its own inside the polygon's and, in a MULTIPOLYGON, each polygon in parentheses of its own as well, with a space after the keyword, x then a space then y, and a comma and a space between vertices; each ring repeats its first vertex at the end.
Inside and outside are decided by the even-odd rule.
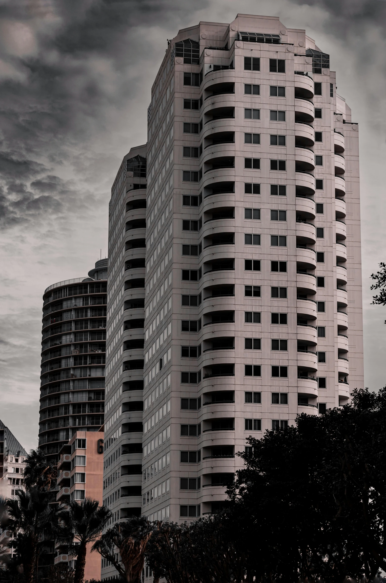
POLYGON ((384 0, 0 0, 0 419, 36 447, 45 287, 107 253, 122 157, 146 142, 154 75, 178 29, 281 17, 331 55, 360 124, 365 384, 386 384, 384 0))

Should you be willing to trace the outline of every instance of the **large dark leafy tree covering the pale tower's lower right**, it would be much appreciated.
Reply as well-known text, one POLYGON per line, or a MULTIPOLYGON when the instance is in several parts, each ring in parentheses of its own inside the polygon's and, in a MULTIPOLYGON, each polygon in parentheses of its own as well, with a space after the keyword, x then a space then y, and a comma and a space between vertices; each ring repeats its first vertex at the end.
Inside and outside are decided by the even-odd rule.
POLYGON ((249 438, 228 517, 259 581, 342 583, 386 568, 386 388, 249 438))

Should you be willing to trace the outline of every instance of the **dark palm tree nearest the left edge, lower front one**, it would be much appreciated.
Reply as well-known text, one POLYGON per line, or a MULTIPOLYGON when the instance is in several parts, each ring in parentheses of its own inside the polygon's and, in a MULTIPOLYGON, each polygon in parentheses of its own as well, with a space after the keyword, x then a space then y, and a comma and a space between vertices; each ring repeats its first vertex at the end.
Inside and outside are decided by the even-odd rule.
POLYGON ((58 524, 56 508, 49 501, 49 493, 38 486, 16 490, 15 498, 7 500, 6 527, 16 536, 12 545, 23 564, 26 583, 33 583, 43 535, 45 539, 52 536, 58 524))

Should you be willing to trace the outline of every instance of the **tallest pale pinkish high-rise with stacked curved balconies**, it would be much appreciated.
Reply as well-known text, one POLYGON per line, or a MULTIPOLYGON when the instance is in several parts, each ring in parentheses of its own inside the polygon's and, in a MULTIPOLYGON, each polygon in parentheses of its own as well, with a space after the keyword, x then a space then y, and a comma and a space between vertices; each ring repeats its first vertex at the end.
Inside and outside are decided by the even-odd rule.
POLYGON ((363 387, 358 126, 330 56, 253 15, 168 41, 147 118, 147 146, 123 160, 109 208, 104 496, 185 521, 224 505, 248 436, 363 387), (145 151, 142 194, 145 174, 126 171, 130 158, 141 175, 145 151), (131 240, 146 243, 135 267, 131 240), (132 310, 143 354, 143 336, 127 343, 132 310), (123 442, 139 472, 141 399, 140 499, 139 478, 118 476, 123 442))

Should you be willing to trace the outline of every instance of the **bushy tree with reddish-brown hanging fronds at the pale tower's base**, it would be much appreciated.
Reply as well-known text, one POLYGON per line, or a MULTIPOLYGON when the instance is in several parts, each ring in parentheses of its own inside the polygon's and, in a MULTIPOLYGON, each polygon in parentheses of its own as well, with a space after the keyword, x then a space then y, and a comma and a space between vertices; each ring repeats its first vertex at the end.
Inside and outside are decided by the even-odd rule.
POLYGON ((94 543, 93 550, 111 561, 119 575, 128 583, 139 583, 144 565, 144 553, 153 528, 145 517, 130 517, 118 522, 94 543), (118 549, 122 562, 118 560, 118 549))

